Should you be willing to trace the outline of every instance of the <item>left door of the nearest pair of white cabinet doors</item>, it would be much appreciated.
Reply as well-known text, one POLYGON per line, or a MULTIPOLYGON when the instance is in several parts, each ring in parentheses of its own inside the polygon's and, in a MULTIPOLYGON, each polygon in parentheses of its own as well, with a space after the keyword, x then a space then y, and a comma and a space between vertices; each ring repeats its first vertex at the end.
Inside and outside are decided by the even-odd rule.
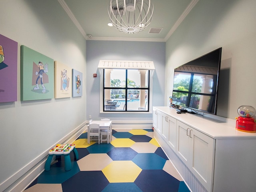
POLYGON ((188 166, 190 151, 190 126, 177 121, 177 144, 176 154, 188 166))

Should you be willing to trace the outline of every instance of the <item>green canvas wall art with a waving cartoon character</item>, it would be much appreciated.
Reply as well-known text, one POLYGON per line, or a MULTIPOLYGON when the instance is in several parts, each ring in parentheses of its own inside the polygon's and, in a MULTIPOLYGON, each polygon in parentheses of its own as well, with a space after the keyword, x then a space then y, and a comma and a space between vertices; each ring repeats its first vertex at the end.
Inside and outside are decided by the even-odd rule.
POLYGON ((21 46, 21 100, 54 98, 54 60, 21 46))

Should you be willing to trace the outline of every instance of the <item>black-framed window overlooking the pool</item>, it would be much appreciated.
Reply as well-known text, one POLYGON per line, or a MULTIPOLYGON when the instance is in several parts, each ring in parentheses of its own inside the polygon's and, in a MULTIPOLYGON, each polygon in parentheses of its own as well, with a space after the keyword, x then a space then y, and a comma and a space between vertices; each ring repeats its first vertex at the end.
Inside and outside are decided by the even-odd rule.
POLYGON ((149 112, 150 70, 104 69, 104 112, 149 112))

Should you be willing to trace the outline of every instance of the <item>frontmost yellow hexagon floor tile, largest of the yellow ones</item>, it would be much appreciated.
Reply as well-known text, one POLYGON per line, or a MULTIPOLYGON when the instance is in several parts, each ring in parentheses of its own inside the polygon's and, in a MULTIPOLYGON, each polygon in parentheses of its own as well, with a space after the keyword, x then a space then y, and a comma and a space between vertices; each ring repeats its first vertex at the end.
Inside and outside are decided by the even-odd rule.
POLYGON ((110 183, 134 182, 141 171, 132 161, 113 161, 102 170, 110 183))

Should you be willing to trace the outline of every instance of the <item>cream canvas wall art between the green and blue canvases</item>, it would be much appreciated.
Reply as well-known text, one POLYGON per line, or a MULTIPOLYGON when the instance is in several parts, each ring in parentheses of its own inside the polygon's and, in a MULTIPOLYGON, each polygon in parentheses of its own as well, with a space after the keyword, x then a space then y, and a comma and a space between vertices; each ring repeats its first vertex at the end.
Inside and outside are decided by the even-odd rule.
POLYGON ((55 98, 72 96, 72 68, 55 61, 55 98))

